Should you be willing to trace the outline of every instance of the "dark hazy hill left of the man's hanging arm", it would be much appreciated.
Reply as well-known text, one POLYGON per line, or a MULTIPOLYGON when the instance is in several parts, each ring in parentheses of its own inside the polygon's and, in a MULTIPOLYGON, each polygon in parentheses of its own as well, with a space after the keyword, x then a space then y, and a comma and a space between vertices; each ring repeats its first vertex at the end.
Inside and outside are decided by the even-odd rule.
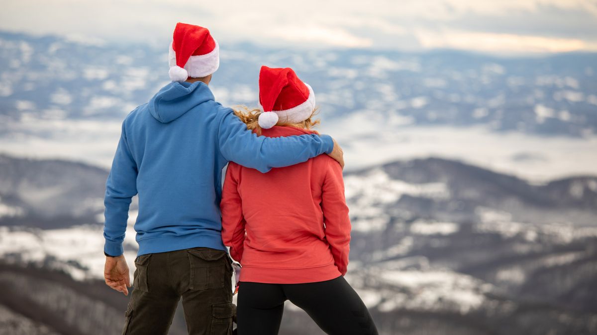
POLYGON ((82 163, 0 154, 0 225, 56 228, 101 222, 96 216, 103 213, 107 174, 82 163))

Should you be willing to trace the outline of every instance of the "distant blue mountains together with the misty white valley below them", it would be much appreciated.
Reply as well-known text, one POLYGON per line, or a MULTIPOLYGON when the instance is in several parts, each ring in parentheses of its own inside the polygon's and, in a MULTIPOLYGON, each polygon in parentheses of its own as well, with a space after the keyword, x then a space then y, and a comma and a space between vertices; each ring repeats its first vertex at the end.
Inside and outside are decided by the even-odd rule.
MULTIPOLYGON (((122 119, 168 82, 167 46, 84 45, 0 32, 0 151, 109 168, 122 119)), ((262 64, 316 92, 347 169, 460 159, 543 182, 596 174, 597 57, 222 46, 217 100, 257 104, 262 64)))

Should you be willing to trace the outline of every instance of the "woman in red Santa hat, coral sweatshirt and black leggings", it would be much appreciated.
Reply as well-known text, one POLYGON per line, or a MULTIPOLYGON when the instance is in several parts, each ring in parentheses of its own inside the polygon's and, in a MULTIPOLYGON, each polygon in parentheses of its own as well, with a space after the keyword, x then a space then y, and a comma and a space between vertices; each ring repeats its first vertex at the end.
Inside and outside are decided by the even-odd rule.
MULTIPOLYGON (((315 95, 292 69, 261 67, 259 100, 263 113, 236 112, 257 135, 315 133, 315 95)), ((277 334, 287 299, 328 334, 377 334, 343 278, 350 221, 337 162, 322 155, 267 173, 231 162, 221 213, 224 244, 242 265, 239 335, 277 334)))

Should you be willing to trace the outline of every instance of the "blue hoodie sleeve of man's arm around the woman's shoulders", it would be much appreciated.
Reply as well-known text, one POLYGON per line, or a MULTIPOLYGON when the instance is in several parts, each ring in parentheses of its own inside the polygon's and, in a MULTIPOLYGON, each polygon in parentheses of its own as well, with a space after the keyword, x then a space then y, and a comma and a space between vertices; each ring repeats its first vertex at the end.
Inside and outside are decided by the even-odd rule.
POLYGON ((272 168, 295 165, 323 153, 331 153, 334 141, 329 135, 300 135, 269 138, 257 136, 247 129, 232 111, 222 117, 218 140, 226 160, 268 172, 272 168))

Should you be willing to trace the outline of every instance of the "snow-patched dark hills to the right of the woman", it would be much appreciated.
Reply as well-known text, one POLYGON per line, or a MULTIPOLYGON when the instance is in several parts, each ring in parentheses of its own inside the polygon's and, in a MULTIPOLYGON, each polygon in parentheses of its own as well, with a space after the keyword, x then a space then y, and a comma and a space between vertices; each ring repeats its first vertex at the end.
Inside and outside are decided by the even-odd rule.
MULTIPOLYGON (((345 180, 349 278, 381 320, 406 313, 432 320, 430 333, 597 331, 597 178, 530 185, 426 159, 345 180)), ((385 330, 411 333, 406 323, 385 330)))

